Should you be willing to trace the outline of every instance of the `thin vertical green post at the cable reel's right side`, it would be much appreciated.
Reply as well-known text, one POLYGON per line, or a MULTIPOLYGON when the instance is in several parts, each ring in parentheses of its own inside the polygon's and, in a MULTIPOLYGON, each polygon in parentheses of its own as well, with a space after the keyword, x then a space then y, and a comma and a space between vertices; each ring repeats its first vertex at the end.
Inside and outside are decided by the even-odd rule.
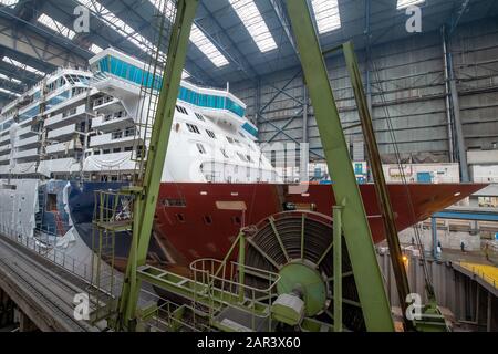
POLYGON ((334 206, 334 332, 342 332, 342 207, 334 206))

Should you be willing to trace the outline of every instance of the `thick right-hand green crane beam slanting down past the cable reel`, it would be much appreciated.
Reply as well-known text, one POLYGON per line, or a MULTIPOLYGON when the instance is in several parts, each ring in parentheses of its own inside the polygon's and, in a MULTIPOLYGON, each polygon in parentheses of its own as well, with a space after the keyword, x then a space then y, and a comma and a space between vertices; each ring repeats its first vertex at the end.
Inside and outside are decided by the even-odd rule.
POLYGON ((305 0, 287 0, 301 64, 333 180, 367 331, 394 331, 391 306, 376 260, 372 235, 342 131, 329 73, 305 0))

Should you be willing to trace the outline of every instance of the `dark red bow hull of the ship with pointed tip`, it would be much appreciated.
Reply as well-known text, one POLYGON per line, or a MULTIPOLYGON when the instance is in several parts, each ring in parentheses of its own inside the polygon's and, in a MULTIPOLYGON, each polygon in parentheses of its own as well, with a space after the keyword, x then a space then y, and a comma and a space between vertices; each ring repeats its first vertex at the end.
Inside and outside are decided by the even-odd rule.
MULTIPOLYGON (((180 264, 198 258, 221 259, 241 225, 255 225, 280 212, 286 204, 312 207, 331 215, 335 204, 332 186, 310 185, 304 194, 289 194, 289 185, 269 184, 178 184, 160 185, 155 232, 169 256, 180 264), (243 201, 247 210, 222 210, 220 201, 243 201)), ((476 184, 390 185, 390 196, 402 231, 484 188, 476 184)), ((385 239, 384 226, 373 185, 360 185, 372 238, 385 239)))

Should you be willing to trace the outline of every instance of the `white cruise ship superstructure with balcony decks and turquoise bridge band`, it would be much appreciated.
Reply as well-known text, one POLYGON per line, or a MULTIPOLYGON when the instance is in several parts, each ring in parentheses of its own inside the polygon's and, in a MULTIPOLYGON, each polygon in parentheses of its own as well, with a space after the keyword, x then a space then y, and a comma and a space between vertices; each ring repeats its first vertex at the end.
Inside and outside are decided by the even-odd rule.
MULTIPOLYGON (((113 49, 90 61, 91 71, 61 69, 2 110, 3 178, 129 180, 151 114, 143 95, 145 64, 113 49)), ((156 92, 162 85, 156 75, 156 92)), ((181 82, 163 181, 274 181, 256 144, 245 104, 228 90, 181 82)), ((152 122, 149 123, 152 125, 152 122)), ((147 143, 147 142, 145 142, 147 143)))

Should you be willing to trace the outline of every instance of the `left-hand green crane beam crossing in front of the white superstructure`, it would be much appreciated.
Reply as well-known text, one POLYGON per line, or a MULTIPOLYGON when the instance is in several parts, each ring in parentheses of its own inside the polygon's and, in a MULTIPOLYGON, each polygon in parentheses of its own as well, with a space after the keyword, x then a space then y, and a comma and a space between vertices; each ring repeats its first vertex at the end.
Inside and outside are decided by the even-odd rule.
POLYGON ((121 330, 134 329, 141 290, 137 270, 138 267, 145 264, 147 257, 160 178, 181 81, 181 71, 185 65, 190 29, 198 2, 199 0, 177 1, 177 12, 169 39, 166 69, 163 75, 163 88, 154 119, 143 188, 134 190, 133 241, 118 304, 117 327, 121 330))

